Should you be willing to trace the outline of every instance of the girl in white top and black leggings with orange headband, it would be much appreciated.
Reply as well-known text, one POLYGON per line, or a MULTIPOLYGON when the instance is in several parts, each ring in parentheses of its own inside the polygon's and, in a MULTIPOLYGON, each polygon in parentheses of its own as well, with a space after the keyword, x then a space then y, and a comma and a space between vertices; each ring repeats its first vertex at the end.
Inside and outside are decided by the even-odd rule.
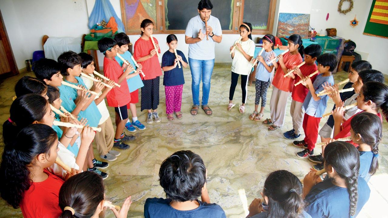
POLYGON ((240 25, 241 40, 235 42, 235 46, 230 47, 232 52, 232 83, 229 90, 229 105, 228 111, 235 106, 232 103, 234 90, 237 86, 237 80, 241 75, 241 90, 242 90, 242 105, 239 107, 240 113, 245 110, 246 90, 248 87, 248 75, 252 70, 250 62, 255 54, 255 43, 252 41, 252 24, 243 22, 240 25))

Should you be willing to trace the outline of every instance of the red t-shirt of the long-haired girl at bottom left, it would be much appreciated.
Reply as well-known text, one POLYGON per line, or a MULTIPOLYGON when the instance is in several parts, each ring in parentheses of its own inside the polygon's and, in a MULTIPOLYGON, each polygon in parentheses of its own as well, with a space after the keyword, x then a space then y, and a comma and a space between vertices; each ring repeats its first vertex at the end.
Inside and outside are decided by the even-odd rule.
POLYGON ((43 171, 49 178, 43 182, 33 182, 20 202, 20 209, 26 218, 53 218, 62 214, 59 189, 64 182, 48 170, 43 171))

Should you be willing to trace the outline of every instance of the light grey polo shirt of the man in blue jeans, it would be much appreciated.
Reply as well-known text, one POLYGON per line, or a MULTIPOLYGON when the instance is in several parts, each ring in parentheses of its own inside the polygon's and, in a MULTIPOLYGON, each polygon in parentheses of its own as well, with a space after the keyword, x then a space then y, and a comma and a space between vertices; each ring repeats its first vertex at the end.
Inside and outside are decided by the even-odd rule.
MULTIPOLYGON (((208 26, 213 28, 213 34, 217 36, 222 35, 222 29, 220 21, 217 17, 213 17, 210 15, 208 20, 208 26)), ((186 27, 185 35, 197 38, 199 29, 201 29, 203 34, 206 34, 205 22, 201 20, 199 14, 190 19, 189 23, 186 27)), ((197 60, 212 60, 215 58, 215 42, 213 38, 209 36, 209 40, 206 40, 206 35, 203 40, 189 44, 189 58, 197 59, 197 60)))

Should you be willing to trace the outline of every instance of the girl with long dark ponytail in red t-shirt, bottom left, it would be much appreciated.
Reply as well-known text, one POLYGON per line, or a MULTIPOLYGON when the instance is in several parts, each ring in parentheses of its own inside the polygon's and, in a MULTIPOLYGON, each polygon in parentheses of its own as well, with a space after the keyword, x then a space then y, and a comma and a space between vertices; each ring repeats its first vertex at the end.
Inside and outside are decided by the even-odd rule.
MULTIPOLYGON (((45 124, 32 124, 5 144, 0 166, 1 197, 26 218, 58 217, 59 189, 63 180, 46 168, 58 152, 57 133, 45 124)), ((66 178, 71 176, 68 173, 66 178)))

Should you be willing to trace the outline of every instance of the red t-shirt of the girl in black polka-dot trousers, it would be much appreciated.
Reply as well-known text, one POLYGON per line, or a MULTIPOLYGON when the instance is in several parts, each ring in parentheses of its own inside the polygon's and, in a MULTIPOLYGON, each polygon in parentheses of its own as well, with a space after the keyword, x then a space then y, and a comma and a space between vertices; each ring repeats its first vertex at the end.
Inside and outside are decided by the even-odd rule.
MULTIPOLYGON (((158 44, 158 40, 156 40, 155 37, 154 42, 155 44, 158 44)), ((151 53, 151 50, 155 49, 154 45, 152 44, 151 38, 148 40, 144 40, 141 37, 135 42, 135 47, 133 48, 133 58, 135 60, 140 59, 140 57, 144 57, 146 55, 149 55, 151 53)), ((158 53, 160 54, 160 47, 158 50, 158 53)), ((143 65, 143 73, 145 75, 145 78, 143 78, 142 74, 140 74, 140 77, 142 80, 151 80, 156 78, 157 76, 162 75, 162 69, 159 64, 158 55, 154 55, 151 58, 139 62, 143 65)))

